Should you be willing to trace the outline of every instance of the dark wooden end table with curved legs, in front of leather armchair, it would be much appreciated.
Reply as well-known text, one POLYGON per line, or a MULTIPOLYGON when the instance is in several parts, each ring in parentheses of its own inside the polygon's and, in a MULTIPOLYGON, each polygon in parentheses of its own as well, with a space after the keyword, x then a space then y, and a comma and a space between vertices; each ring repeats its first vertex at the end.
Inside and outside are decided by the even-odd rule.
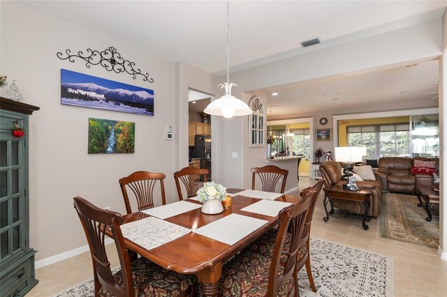
POLYGON ((371 198, 371 189, 361 188, 355 191, 348 190, 347 188, 343 188, 342 185, 328 185, 323 188, 324 191, 324 210, 326 211, 326 216, 323 218, 325 222, 328 222, 329 215, 334 215, 334 201, 333 198, 351 200, 351 201, 360 201, 365 203, 365 214, 363 215, 362 227, 363 229, 369 229, 366 222, 369 222, 368 212, 369 212, 369 199, 371 198), (326 206, 330 203, 330 211, 328 212, 328 208, 326 206))

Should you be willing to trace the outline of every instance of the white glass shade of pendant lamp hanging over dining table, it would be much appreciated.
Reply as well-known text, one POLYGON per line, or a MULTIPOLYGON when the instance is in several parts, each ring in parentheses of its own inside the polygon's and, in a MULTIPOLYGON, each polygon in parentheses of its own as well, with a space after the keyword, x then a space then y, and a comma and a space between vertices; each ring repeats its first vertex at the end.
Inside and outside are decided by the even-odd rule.
POLYGON ((225 116, 226 118, 248 116, 252 113, 247 103, 229 95, 213 100, 203 112, 213 116, 225 116))

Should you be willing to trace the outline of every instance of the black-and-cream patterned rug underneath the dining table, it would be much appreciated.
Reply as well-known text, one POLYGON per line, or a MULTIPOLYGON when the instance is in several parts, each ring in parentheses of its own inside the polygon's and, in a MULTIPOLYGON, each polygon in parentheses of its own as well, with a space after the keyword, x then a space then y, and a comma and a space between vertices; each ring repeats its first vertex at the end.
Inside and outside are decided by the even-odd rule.
MULTIPOLYGON (((303 267, 300 296, 394 296, 391 257, 312 238, 311 265, 317 293, 310 289, 303 267)), ((80 282, 54 296, 94 296, 94 282, 80 282)))

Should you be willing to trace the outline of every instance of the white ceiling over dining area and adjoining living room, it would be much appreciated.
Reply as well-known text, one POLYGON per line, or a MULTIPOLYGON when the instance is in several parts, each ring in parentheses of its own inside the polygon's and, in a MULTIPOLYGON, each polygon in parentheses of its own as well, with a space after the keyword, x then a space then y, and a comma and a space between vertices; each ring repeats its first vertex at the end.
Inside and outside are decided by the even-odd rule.
MULTIPOLYGON (((217 75, 226 68, 226 1, 21 2, 168 61, 184 61, 217 75)), ((378 26, 383 30, 397 22, 403 26, 439 18, 446 6, 447 1, 230 1, 230 70, 309 52, 358 31, 365 37, 378 26), (300 43, 312 38, 320 38, 321 45, 302 48, 300 43)), ((435 100, 430 98, 436 94, 427 92, 437 89, 436 64, 271 88, 267 91, 279 96, 269 97, 268 105, 280 106, 274 114, 330 110, 337 101, 323 97, 322 91, 337 92, 346 106, 390 98, 435 100), (303 106, 299 100, 316 104, 303 106)))

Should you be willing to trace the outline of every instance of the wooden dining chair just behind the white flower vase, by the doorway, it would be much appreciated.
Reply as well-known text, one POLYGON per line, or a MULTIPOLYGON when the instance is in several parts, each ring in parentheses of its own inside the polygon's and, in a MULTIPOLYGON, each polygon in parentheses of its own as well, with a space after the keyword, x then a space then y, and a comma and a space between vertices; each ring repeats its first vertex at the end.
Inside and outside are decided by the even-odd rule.
POLYGON ((198 169, 193 167, 184 167, 182 170, 174 173, 175 186, 177 187, 177 193, 179 195, 179 201, 183 200, 182 187, 180 187, 180 182, 184 185, 186 189, 186 198, 191 198, 196 196, 199 189, 200 177, 203 176, 203 182, 207 182, 208 169, 198 169))

